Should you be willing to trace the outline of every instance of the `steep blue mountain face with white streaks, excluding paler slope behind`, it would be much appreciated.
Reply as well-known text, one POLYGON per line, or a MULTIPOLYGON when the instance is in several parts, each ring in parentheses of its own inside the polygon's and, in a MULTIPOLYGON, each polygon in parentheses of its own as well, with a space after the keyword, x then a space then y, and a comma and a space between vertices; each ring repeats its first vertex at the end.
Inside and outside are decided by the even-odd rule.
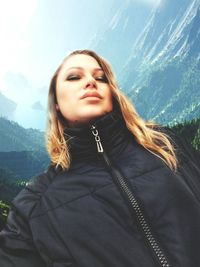
POLYGON ((145 119, 200 116, 200 1, 163 0, 123 67, 123 89, 145 119))

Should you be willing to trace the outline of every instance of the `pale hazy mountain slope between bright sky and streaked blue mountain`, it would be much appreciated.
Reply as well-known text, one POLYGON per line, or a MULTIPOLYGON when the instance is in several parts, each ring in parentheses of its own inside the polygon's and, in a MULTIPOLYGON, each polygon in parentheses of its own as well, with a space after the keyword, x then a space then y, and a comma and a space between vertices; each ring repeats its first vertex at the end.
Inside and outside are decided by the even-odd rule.
POLYGON ((138 35, 148 21, 151 7, 138 1, 116 0, 111 10, 112 16, 104 21, 102 30, 91 39, 89 46, 111 61, 115 73, 120 76, 138 35))

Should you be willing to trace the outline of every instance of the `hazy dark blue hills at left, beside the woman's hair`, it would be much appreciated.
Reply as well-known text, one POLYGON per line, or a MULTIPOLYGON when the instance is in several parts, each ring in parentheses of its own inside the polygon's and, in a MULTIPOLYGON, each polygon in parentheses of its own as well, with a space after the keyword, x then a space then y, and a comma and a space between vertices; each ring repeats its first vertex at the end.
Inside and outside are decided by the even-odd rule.
POLYGON ((12 171, 18 179, 29 179, 49 162, 43 132, 0 118, 0 168, 12 171))

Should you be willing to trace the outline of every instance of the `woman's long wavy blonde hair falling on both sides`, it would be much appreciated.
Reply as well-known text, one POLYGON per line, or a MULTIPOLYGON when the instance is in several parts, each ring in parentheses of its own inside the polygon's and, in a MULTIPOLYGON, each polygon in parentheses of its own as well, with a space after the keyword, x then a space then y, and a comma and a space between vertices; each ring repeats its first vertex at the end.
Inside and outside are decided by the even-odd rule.
POLYGON ((56 110, 56 82, 63 64, 69 57, 77 54, 93 57, 103 69, 110 89, 112 90, 113 99, 118 103, 126 126, 134 135, 135 140, 149 152, 163 160, 172 171, 176 171, 178 159, 175 154, 175 147, 170 142, 170 136, 160 131, 162 125, 150 120, 145 121, 139 116, 131 101, 119 89, 110 64, 92 50, 76 50, 70 53, 63 60, 51 79, 45 133, 46 148, 51 159, 51 164, 55 165, 56 168, 61 167, 62 170, 67 170, 70 167, 70 153, 66 137, 64 137, 63 118, 61 117, 60 111, 56 110))

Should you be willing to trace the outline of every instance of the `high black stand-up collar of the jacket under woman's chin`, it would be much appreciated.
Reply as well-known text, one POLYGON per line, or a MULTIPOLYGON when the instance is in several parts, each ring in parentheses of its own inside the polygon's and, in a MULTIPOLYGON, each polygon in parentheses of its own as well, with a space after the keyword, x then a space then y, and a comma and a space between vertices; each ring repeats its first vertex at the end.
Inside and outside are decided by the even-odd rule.
POLYGON ((72 163, 80 160, 91 161, 99 156, 91 130, 92 125, 98 130, 101 144, 108 155, 117 155, 126 146, 127 135, 130 132, 127 130, 121 112, 114 110, 81 127, 64 129, 72 163))

